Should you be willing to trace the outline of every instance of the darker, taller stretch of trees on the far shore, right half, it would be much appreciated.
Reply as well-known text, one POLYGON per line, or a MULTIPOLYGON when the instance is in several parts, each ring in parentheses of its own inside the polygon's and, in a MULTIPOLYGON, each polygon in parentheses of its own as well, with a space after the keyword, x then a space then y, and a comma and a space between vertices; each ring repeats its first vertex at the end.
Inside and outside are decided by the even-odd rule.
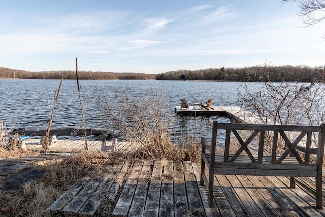
POLYGON ((262 81, 280 82, 324 81, 325 66, 253 66, 243 68, 209 68, 177 70, 156 75, 157 80, 212 80, 212 81, 262 81))

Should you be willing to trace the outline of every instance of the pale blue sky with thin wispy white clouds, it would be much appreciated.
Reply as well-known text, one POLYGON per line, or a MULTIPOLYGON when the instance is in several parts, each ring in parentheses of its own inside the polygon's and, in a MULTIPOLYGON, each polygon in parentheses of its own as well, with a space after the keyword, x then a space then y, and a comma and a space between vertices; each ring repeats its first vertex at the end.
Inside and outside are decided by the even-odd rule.
POLYGON ((325 21, 278 0, 0 0, 0 67, 158 74, 325 65, 325 21))

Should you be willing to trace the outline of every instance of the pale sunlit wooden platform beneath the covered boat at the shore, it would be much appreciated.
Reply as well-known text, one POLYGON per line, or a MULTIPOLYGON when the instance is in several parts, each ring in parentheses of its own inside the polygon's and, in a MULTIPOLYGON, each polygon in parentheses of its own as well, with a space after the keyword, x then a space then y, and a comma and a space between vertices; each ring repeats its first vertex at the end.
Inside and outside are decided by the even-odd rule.
MULTIPOLYGON (((40 145, 39 139, 26 139, 24 140, 27 150, 43 151, 42 145, 40 145)), ((112 146, 113 142, 107 140, 107 146, 112 146)), ((82 140, 62 140, 57 139, 56 142, 49 146, 49 153, 72 153, 84 150, 84 141, 82 140)), ((132 147, 127 142, 117 141, 117 150, 120 151, 131 151, 132 147)), ((88 150, 89 151, 101 151, 102 142, 101 141, 91 141, 88 140, 88 150)))

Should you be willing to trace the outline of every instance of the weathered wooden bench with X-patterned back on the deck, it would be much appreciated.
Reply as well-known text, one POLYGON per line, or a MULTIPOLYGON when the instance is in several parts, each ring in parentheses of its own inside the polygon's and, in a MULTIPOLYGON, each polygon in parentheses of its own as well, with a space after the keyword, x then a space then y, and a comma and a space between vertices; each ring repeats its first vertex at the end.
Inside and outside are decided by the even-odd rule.
POLYGON ((316 207, 322 209, 324 127, 325 125, 256 125, 218 123, 214 121, 211 144, 205 138, 201 138, 202 159, 200 183, 202 185, 205 184, 208 189, 209 205, 211 206, 213 203, 214 174, 288 176, 290 177, 290 188, 295 188, 295 184, 299 183, 304 189, 315 194, 316 207), (242 138, 244 131, 249 132, 250 135, 245 136, 247 138, 246 141, 242 138), (318 137, 313 137, 315 135, 313 133, 318 134, 318 137), (270 154, 266 154, 265 148, 265 140, 269 138, 267 135, 271 137, 270 154), (295 138, 289 139, 290 136, 295 138), (224 147, 222 147, 223 151, 221 153, 216 153, 217 138, 222 138, 220 141, 224 140, 224 144, 222 145, 224 147), (239 143, 236 146, 239 149, 234 151, 233 154, 230 154, 230 150, 234 149, 235 143, 231 141, 231 138, 234 138, 237 144, 239 143), (311 147, 312 140, 314 140, 314 143, 318 143, 317 148, 311 147), (279 145, 281 141, 285 143, 282 151, 279 145), (256 155, 253 155, 254 152, 252 150, 255 150, 256 155), (313 157, 316 159, 311 161, 313 157), (208 179, 205 175, 205 165, 208 168, 208 179), (304 185, 304 183, 298 181, 295 177, 315 177, 316 188, 312 189, 304 185))

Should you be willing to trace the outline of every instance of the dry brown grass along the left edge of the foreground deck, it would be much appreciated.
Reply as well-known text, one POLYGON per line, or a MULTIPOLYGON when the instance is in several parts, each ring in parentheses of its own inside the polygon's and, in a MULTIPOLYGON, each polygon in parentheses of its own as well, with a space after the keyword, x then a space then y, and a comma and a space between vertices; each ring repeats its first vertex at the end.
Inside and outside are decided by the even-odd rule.
POLYGON ((100 180, 105 163, 114 163, 119 156, 88 152, 64 157, 62 161, 37 167, 47 171, 38 180, 28 182, 17 191, 0 195, 0 216, 51 216, 47 211, 60 195, 82 177, 100 180))

